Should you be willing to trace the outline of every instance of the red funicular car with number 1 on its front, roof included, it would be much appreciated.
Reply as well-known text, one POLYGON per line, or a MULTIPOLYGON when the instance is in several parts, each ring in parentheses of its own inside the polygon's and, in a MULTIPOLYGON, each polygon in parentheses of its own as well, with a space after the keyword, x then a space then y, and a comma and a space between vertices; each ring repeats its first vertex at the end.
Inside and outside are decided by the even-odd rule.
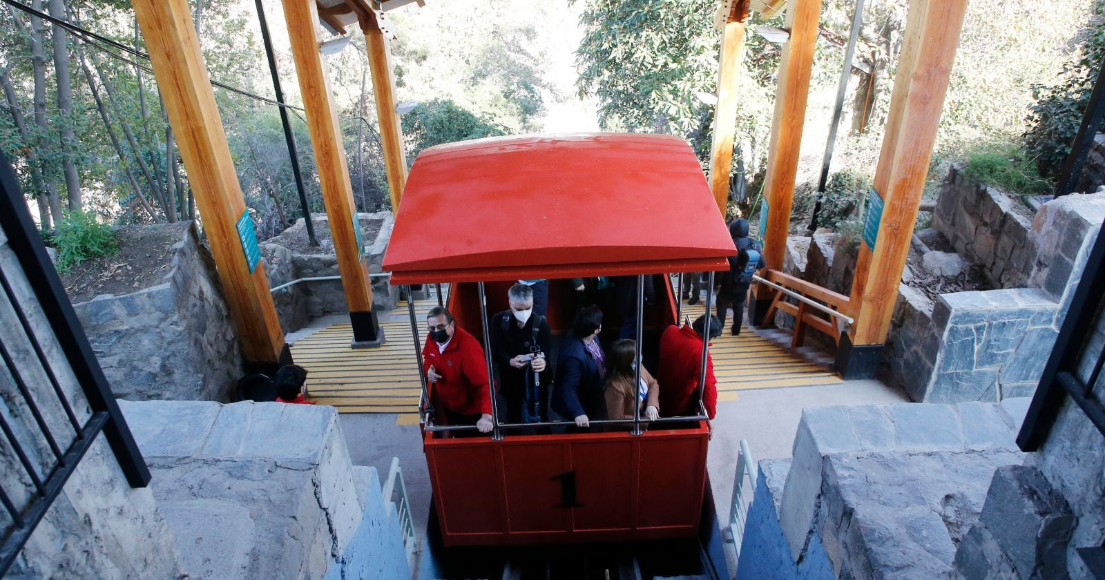
MULTIPOLYGON (((550 281, 547 318, 556 337, 570 327, 573 291, 566 278, 653 276, 656 299, 644 305, 638 298, 638 345, 645 366, 656 370, 663 365, 659 333, 677 316, 669 273, 726 270, 726 257, 735 254, 683 139, 528 136, 422 151, 383 268, 392 284, 450 283, 448 306, 457 325, 484 342, 488 313, 507 308, 506 291, 518 280, 550 281)), ((601 298, 598 304, 607 313, 608 344, 606 334, 617 335, 622 320, 601 298)), ((411 308, 418 349, 424 320, 415 321, 411 308)), ((442 425, 432 386, 422 382, 423 444, 445 546, 697 532, 708 444, 702 413, 657 422, 592 421, 586 433, 555 433, 552 423, 503 423, 496 413, 494 431, 481 434, 473 426, 442 425), (457 430, 478 436, 456 436, 457 430)))

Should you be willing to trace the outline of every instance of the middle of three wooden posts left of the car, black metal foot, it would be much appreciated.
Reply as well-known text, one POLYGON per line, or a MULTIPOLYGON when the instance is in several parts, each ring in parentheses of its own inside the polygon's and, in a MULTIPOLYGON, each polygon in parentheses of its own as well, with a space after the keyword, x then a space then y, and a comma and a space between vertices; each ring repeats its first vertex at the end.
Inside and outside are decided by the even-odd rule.
POLYGON ((372 312, 372 285, 361 243, 358 242, 360 223, 356 219, 357 205, 352 199, 341 128, 338 126, 326 63, 318 52, 320 39, 315 0, 283 0, 283 3, 303 107, 307 113, 311 145, 318 167, 318 182, 323 189, 341 288, 352 323, 352 344, 355 347, 379 346, 383 336, 372 312))

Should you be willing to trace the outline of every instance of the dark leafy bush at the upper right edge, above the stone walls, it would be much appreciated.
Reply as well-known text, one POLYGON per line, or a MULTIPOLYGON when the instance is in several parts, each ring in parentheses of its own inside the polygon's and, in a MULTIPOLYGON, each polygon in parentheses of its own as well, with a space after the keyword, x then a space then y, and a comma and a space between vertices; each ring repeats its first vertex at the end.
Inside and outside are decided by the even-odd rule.
MULTIPOLYGON (((1059 83, 1032 85, 1032 95, 1038 101, 1029 109, 1024 147, 1036 158, 1045 176, 1057 177, 1071 152, 1102 62, 1105 62, 1105 2, 1096 0, 1094 18, 1082 31, 1081 46, 1063 66, 1059 83)), ((1103 129, 1105 123, 1098 127, 1103 129)))

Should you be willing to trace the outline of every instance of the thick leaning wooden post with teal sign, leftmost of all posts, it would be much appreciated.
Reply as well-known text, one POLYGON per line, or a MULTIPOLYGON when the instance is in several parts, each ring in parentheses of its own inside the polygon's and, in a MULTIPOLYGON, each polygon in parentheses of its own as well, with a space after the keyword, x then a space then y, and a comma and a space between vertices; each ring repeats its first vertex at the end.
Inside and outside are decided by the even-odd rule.
POLYGON ((291 362, 291 354, 284 344, 264 263, 259 261, 250 272, 238 233, 245 200, 188 1, 134 0, 134 8, 188 181, 196 192, 242 354, 251 367, 273 371, 276 365, 291 362))

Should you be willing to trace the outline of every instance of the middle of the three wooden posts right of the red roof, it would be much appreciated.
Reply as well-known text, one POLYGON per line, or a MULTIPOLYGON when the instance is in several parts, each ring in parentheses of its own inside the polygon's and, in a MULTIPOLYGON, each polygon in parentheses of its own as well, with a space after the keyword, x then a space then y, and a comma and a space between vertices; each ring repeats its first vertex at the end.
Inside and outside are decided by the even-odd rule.
MULTIPOLYGON (((782 60, 779 62, 775 119, 771 123, 767 177, 764 183, 768 221, 767 232, 761 232, 761 235, 764 260, 768 270, 781 271, 782 259, 787 252, 794 176, 798 172, 798 154, 802 144, 806 101, 810 93, 810 73, 813 67, 813 49, 818 43, 820 17, 820 0, 790 0, 787 3, 787 28, 790 29, 790 38, 782 46, 782 60)), ((756 299, 749 305, 750 320, 756 320, 766 312, 771 297, 770 288, 758 284, 755 297, 756 299)))

